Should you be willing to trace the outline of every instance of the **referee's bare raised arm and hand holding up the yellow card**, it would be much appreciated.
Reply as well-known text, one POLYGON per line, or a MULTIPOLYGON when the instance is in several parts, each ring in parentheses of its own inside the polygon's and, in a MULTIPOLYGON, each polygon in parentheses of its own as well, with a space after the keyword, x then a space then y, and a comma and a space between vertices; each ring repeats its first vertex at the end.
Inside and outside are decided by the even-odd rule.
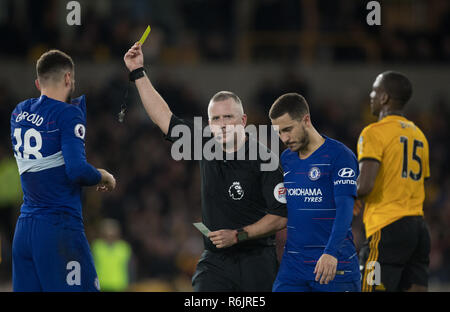
POLYGON ((125 54, 123 60, 130 71, 130 80, 136 83, 147 115, 164 134, 167 134, 172 111, 145 74, 141 44, 136 42, 125 54))

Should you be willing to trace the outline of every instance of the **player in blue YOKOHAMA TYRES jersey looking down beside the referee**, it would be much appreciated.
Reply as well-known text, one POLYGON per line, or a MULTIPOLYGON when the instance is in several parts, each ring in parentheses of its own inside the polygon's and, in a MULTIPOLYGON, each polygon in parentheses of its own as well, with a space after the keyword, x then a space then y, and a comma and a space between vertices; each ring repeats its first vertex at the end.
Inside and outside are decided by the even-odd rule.
POLYGON ((273 291, 360 291, 351 223, 358 162, 312 125, 297 93, 280 96, 269 117, 288 147, 281 155, 287 241, 273 291))

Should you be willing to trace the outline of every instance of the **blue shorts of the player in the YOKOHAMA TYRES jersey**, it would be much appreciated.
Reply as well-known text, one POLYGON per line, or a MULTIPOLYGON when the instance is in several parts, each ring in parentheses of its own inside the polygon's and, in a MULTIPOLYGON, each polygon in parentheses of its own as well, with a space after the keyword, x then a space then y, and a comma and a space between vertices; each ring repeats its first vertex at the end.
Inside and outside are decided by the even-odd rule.
POLYGON ((287 281, 275 280, 272 287, 273 292, 360 292, 361 282, 336 282, 331 281, 328 284, 320 284, 316 281, 298 281, 295 284, 287 281))

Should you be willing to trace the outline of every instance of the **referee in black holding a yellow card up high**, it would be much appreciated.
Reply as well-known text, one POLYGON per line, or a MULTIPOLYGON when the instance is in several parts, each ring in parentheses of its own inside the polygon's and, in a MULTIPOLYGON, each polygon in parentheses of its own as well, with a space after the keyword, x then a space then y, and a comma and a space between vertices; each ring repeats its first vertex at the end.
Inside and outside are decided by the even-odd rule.
MULTIPOLYGON (((124 61, 147 114, 166 139, 175 142, 180 138, 173 135, 177 133, 175 127, 202 134, 197 125, 172 114, 154 89, 143 68, 139 43, 125 54, 124 61)), ((263 146, 246 136, 247 116, 234 93, 214 95, 208 118, 223 160, 205 156, 200 160, 202 219, 212 232, 204 237, 205 251, 192 278, 194 291, 269 292, 278 271, 274 234, 287 222, 285 202, 276 196, 283 186, 281 170, 261 171, 261 159, 248 160, 250 147, 255 143, 258 148, 263 146), (244 160, 238 157, 242 153, 244 160), (234 154, 234 160, 227 160, 230 154, 234 154)), ((195 141, 189 143, 195 147, 195 141)), ((205 138, 202 142, 203 151, 205 138)))

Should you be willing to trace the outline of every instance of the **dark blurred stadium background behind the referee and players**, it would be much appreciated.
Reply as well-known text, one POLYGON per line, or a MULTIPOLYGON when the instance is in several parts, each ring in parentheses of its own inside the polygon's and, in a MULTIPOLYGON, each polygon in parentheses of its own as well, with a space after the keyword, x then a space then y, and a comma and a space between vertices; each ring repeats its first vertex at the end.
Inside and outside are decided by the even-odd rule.
MULTIPOLYGON (((251 124, 268 124, 276 97, 306 96, 321 133, 355 151, 378 73, 399 70, 414 94, 407 117, 430 143, 432 178, 425 217, 431 230, 430 289, 450 290, 450 2, 391 0, 381 26, 368 26, 369 1, 359 0, 97 0, 81 4, 81 25, 69 26, 69 1, 0 0, 0 290, 11 290, 11 241, 21 190, 9 117, 38 97, 35 61, 50 48, 76 64, 76 95, 86 94, 88 160, 110 170, 115 192, 84 193, 90 242, 104 219, 115 219, 132 250, 130 291, 190 291, 202 251, 196 162, 176 162, 170 144, 130 89, 123 124, 117 113, 127 88, 123 54, 150 24, 146 67, 179 116, 205 116, 219 90, 236 92, 251 124)), ((361 218, 353 222, 357 247, 361 218)), ((284 232, 278 234, 279 249, 284 232)), ((101 277, 100 277, 101 278, 101 277)))

